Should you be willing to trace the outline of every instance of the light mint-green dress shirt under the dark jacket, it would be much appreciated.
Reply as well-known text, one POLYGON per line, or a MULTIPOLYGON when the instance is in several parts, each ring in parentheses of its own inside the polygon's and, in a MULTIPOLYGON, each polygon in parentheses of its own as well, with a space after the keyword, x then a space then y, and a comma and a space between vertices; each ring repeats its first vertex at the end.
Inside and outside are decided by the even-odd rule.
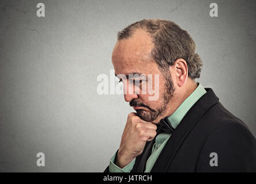
MULTIPOLYGON (((186 115, 189 109, 195 104, 195 102, 198 101, 199 98, 202 97, 202 95, 206 93, 206 90, 201 84, 197 83, 197 85, 197 89, 195 89, 193 93, 191 93, 189 97, 187 97, 185 101, 179 106, 179 108, 176 109, 175 112, 168 117, 173 128, 176 128, 179 125, 180 121, 182 121, 183 117, 186 115)), ((153 145, 152 153, 146 162, 145 173, 149 173, 152 170, 152 167, 154 166, 158 156, 160 155, 170 136, 171 134, 166 133, 160 133, 156 136, 156 142, 153 145)), ((129 173, 133 169, 136 158, 127 164, 127 166, 120 168, 114 164, 115 156, 116 154, 110 160, 110 173, 129 173)))

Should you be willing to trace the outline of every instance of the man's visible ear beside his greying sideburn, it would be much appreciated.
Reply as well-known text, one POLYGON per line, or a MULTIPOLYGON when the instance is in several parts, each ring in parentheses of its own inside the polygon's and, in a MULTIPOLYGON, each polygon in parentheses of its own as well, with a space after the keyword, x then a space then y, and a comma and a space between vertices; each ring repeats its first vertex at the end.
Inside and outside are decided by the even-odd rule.
POLYGON ((177 59, 174 62, 174 72, 177 85, 182 87, 186 83, 188 77, 187 62, 182 58, 177 59))

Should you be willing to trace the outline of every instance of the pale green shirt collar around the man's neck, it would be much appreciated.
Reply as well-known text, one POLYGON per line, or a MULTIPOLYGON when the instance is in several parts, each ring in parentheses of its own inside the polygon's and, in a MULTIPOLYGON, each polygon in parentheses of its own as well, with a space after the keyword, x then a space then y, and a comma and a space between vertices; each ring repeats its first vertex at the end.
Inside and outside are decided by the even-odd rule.
POLYGON ((178 109, 172 113, 171 116, 168 117, 168 120, 171 122, 173 128, 176 128, 180 121, 182 121, 183 117, 189 111, 189 109, 198 101, 199 98, 202 97, 206 93, 204 87, 197 82, 197 88, 185 99, 184 102, 179 106, 178 109))

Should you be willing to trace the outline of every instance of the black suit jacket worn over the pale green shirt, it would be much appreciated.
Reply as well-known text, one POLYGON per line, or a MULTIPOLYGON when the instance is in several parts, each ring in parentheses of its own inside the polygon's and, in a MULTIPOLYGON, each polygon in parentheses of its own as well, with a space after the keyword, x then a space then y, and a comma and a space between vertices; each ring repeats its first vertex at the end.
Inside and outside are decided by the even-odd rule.
MULTIPOLYGON (((212 89, 205 90, 172 133, 151 172, 256 172, 255 137, 212 89)), ((131 173, 138 171, 143 154, 137 156, 131 173)))

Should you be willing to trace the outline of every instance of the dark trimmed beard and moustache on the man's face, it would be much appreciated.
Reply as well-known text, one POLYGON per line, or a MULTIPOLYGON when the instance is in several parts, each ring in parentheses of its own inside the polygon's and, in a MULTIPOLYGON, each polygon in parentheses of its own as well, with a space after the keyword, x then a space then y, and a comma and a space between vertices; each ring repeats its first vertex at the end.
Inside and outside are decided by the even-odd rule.
POLYGON ((145 104, 143 104, 139 99, 132 99, 130 101, 130 106, 142 106, 149 109, 148 111, 142 110, 142 109, 136 110, 137 116, 140 117, 142 120, 148 121, 148 122, 152 122, 156 120, 156 118, 165 111, 168 102, 170 102, 172 95, 174 95, 175 89, 171 79, 170 72, 168 71, 164 72, 164 79, 165 79, 165 85, 164 85, 163 98, 160 99, 161 100, 160 108, 153 110, 149 106, 146 106, 145 104))

